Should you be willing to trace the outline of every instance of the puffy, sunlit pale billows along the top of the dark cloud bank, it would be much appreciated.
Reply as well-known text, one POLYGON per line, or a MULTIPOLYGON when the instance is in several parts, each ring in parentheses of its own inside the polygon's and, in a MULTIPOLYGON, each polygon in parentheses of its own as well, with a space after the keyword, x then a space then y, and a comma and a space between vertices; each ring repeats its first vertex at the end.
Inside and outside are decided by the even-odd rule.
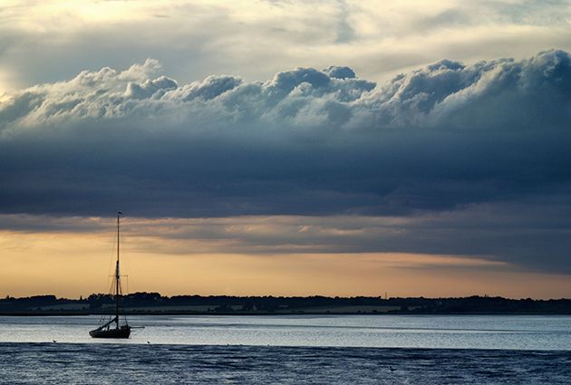
POLYGON ((502 59, 467 66, 442 60, 377 88, 347 67, 297 68, 278 72, 267 82, 212 75, 180 85, 160 75, 159 63, 148 59, 122 72, 84 71, 68 82, 12 92, 11 100, 0 105, 0 129, 12 135, 24 127, 73 125, 86 119, 152 119, 150 130, 170 126, 188 132, 203 124, 222 125, 224 130, 439 125, 495 130, 498 124, 536 128, 546 119, 563 124, 568 118, 570 68, 567 53, 551 51, 523 62, 502 59), (537 111, 538 103, 551 105, 555 115, 537 111), (482 107, 485 113, 477 111, 482 107), (530 110, 511 113, 522 107, 530 110), (161 121, 160 127, 153 129, 154 120, 161 121))

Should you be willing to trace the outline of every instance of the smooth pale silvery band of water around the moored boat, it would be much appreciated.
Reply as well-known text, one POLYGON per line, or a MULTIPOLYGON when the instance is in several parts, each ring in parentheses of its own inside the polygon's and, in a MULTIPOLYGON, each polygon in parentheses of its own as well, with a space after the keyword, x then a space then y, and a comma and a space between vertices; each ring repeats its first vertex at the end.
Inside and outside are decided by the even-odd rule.
MULTIPOLYGON (((120 343, 571 351, 570 316, 133 316, 120 343)), ((0 342, 93 340, 98 316, 0 317, 0 342)))

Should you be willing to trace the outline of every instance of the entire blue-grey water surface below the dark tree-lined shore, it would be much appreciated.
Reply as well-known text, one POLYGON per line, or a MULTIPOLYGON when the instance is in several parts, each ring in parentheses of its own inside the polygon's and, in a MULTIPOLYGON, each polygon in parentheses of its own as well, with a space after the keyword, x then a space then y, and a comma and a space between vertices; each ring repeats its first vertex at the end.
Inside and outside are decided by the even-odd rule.
POLYGON ((569 316, 0 317, 0 384, 571 384, 569 316))

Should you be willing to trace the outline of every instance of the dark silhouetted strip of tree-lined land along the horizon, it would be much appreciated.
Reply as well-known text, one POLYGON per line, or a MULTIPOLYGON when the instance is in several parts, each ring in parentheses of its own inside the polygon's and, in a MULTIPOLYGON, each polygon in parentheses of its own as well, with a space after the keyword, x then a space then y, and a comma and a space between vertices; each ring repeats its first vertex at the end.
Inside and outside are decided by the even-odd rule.
MULTIPOLYGON (((111 294, 79 300, 35 295, 0 299, 0 313, 107 313, 111 294)), ((470 296, 461 298, 308 297, 175 295, 134 293, 121 297, 128 313, 540 313, 571 314, 571 299, 533 300, 470 296)))

